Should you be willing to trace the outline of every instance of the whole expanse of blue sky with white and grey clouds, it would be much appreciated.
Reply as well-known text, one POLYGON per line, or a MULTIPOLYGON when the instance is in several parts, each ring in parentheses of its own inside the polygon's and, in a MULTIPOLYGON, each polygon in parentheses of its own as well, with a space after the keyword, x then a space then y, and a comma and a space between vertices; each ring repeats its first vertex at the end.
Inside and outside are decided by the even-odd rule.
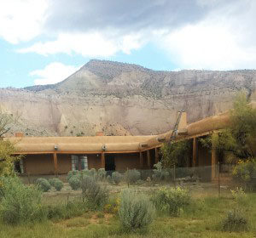
POLYGON ((0 88, 60 82, 90 59, 163 71, 255 69, 255 2, 0 1, 0 88))

